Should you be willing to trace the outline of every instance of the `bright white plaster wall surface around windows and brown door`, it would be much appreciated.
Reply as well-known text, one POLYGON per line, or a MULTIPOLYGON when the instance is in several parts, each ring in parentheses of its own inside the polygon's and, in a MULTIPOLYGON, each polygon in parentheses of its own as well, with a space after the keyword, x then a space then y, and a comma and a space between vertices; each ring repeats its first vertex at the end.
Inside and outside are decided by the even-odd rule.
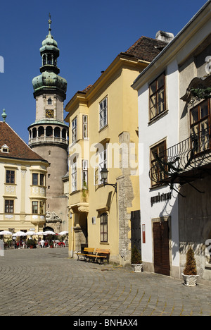
MULTIPOLYGON (((179 267, 179 228, 178 228, 178 200, 177 193, 172 193, 169 201, 158 202, 151 205, 151 197, 169 193, 168 186, 151 188, 150 171, 150 150, 162 140, 166 140, 167 148, 177 144, 179 133, 179 73, 177 61, 174 59, 167 68, 162 68, 160 73, 166 69, 167 88, 167 111, 157 121, 149 123, 148 112, 148 84, 143 85, 139 90, 139 173, 140 173, 140 204, 141 204, 141 225, 146 226, 146 243, 141 244, 143 262, 149 270, 153 269, 153 231, 152 220, 171 216, 171 242, 170 255, 171 265, 179 267)), ((156 76, 151 76, 153 81, 156 76)))

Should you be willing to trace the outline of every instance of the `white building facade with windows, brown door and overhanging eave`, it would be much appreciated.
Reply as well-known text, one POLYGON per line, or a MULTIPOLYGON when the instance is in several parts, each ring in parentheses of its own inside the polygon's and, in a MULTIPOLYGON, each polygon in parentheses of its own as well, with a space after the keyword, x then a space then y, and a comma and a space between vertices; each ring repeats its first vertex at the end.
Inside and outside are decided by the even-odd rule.
MULTIPOLYGON (((177 278, 185 261, 181 257, 179 231, 184 212, 179 205, 185 203, 181 186, 185 182, 178 180, 181 159, 175 149, 191 135, 190 113, 184 112, 181 97, 197 76, 196 66, 189 64, 194 63, 194 51, 198 49, 199 54, 210 30, 210 1, 207 1, 132 85, 139 98, 143 264, 146 271, 177 278)), ((186 236, 185 245, 189 243, 186 236)))

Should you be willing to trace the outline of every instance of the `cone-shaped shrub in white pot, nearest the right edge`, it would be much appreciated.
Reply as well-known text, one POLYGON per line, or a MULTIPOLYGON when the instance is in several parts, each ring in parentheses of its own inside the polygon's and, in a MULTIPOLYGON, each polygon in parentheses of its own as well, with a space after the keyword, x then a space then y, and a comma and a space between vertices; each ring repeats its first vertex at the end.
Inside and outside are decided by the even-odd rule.
POLYGON ((192 247, 188 248, 188 252, 186 254, 186 266, 183 274, 181 275, 183 276, 185 286, 196 286, 198 275, 196 269, 196 259, 194 257, 192 247))

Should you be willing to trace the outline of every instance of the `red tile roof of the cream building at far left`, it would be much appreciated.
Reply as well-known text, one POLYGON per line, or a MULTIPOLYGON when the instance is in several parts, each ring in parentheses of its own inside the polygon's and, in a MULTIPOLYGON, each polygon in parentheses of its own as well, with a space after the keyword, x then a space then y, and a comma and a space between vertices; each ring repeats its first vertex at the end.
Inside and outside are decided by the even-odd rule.
POLYGON ((45 161, 39 154, 33 152, 30 147, 15 133, 8 125, 0 121, 0 148, 7 145, 9 152, 1 152, 0 158, 13 158, 25 160, 41 160, 45 161))

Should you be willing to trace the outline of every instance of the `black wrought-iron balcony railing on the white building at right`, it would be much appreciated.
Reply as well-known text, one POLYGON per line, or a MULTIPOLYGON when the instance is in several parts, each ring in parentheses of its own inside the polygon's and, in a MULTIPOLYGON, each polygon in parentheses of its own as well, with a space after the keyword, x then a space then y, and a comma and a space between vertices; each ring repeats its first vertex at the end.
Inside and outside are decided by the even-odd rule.
POLYGON ((211 169, 210 127, 179 142, 160 154, 153 154, 155 162, 149 176, 153 185, 190 183, 202 178, 211 169))

